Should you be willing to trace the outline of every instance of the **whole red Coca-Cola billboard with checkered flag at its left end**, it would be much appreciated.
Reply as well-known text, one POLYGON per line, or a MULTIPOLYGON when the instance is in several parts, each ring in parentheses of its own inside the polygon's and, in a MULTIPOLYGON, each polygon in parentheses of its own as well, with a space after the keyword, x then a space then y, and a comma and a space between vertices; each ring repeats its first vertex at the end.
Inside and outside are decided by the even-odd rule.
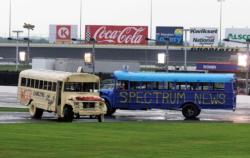
POLYGON ((147 44, 147 26, 86 25, 85 38, 99 44, 147 44))

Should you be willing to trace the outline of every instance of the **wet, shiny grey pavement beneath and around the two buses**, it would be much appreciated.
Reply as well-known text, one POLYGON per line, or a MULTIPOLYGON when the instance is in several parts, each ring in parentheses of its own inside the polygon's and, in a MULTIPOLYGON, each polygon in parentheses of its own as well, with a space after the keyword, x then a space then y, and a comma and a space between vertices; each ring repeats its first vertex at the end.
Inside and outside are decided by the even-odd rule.
MULTIPOLYGON (((1 107, 21 107, 17 101, 16 87, 0 86, 1 107)), ((106 122, 127 122, 127 121, 187 121, 181 111, 170 110, 117 110, 113 117, 106 117, 106 122)), ((188 120, 190 121, 190 120, 188 120)), ((196 120, 200 122, 232 122, 250 123, 250 96, 237 96, 236 111, 229 110, 202 110, 196 120)), ((54 113, 45 112, 42 120, 31 119, 28 112, 0 112, 1 123, 26 123, 26 122, 58 122, 54 113)), ((74 122, 97 122, 97 119, 81 117, 74 122)))

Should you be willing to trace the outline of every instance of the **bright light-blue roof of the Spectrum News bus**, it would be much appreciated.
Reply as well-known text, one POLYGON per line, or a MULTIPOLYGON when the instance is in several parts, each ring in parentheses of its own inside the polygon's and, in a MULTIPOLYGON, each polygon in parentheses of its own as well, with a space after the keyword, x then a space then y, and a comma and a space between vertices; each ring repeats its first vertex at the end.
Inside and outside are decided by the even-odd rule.
POLYGON ((232 82, 234 74, 166 73, 115 71, 117 80, 156 82, 232 82))

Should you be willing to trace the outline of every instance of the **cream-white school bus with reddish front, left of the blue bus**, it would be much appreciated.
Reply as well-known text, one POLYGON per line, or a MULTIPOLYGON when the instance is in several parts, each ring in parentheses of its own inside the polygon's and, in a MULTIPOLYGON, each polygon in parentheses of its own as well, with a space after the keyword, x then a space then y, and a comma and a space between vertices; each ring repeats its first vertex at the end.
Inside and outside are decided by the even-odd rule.
POLYGON ((100 79, 88 73, 24 70, 19 75, 18 100, 40 119, 44 111, 71 122, 75 117, 97 116, 104 120, 107 108, 99 96, 100 79))

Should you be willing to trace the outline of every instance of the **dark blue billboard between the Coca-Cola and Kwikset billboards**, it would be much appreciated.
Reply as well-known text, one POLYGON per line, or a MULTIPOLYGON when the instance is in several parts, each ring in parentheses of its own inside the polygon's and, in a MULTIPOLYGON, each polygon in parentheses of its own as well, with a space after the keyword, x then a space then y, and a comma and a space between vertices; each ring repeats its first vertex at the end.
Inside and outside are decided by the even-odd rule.
POLYGON ((156 27, 156 44, 165 45, 166 38, 169 39, 169 45, 183 45, 183 27, 156 27))

